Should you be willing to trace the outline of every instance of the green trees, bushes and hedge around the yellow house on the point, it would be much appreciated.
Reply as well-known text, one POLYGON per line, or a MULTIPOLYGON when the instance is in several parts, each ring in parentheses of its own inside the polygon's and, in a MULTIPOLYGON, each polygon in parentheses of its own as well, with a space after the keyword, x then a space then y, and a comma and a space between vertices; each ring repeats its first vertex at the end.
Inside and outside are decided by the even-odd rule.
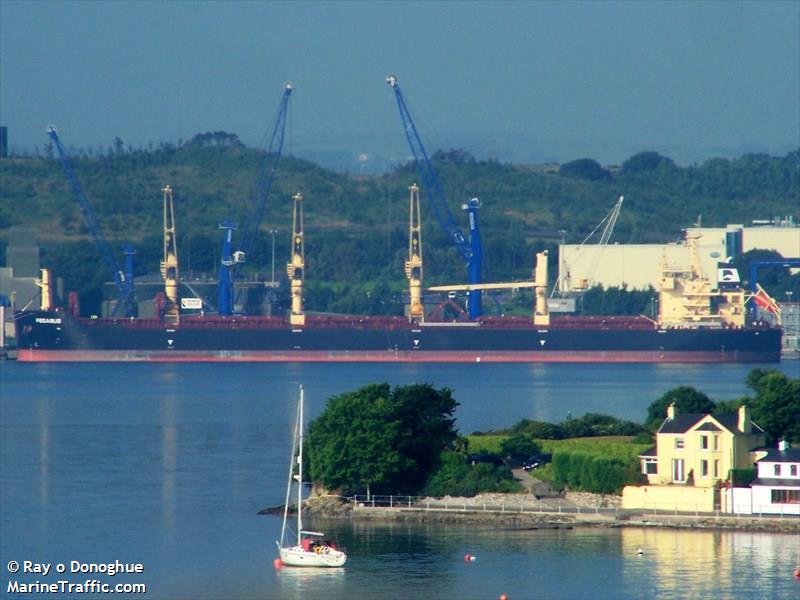
POLYGON ((618 493, 624 485, 640 481, 637 448, 652 443, 673 403, 678 412, 701 414, 731 413, 747 404, 768 445, 777 440, 800 443, 800 379, 753 369, 746 384, 752 395, 719 402, 691 387, 674 388, 648 406, 643 424, 593 413, 568 416, 561 423, 523 419, 507 430, 491 432, 495 449, 484 446, 482 456, 488 452, 497 460, 476 458, 471 452, 469 439, 480 441, 481 436, 468 439, 458 432, 458 402, 450 389, 372 384, 329 399, 309 425, 306 456, 314 483, 340 494, 473 496, 517 490, 509 467, 554 440, 629 436, 633 447, 631 442, 593 439, 591 445, 556 446, 553 453, 550 473, 555 484, 618 493))

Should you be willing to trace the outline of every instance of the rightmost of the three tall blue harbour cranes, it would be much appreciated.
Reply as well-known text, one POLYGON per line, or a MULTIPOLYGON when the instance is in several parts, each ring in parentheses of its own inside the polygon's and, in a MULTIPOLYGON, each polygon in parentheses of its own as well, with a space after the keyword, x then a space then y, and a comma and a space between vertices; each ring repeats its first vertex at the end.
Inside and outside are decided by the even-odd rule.
MULTIPOLYGON (((386 78, 386 83, 394 91, 395 99, 397 100, 397 108, 400 111, 400 119, 403 122, 403 130, 408 140, 408 145, 411 148, 411 153, 414 155, 414 162, 417 165, 422 186, 433 208, 433 214, 436 220, 444 229, 445 234, 453 242, 461 257, 467 263, 468 280, 471 285, 477 285, 481 282, 481 260, 483 258, 483 250, 481 246, 480 230, 478 229, 478 209, 480 208, 480 201, 477 198, 472 198, 462 205, 462 209, 469 215, 469 231, 470 238, 467 241, 464 234, 456 225, 453 214, 447 206, 444 192, 439 185, 439 179, 436 176, 436 171, 433 164, 428 158, 428 153, 425 151, 425 146, 422 139, 419 137, 417 127, 414 125, 414 120, 411 118, 411 113, 406 105, 403 93, 400 90, 400 84, 397 77, 389 75, 386 78)), ((477 319, 482 311, 481 307, 481 291, 472 289, 467 293, 467 309, 471 319, 477 319)))

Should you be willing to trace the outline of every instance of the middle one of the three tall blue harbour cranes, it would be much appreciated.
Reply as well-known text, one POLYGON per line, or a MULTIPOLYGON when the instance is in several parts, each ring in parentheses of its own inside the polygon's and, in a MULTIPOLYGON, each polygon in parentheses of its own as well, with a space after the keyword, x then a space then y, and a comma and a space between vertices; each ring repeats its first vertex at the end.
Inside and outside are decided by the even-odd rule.
MULTIPOLYGON (((259 173, 253 192, 252 210, 247 219, 243 221, 242 243, 238 250, 232 251, 232 237, 230 223, 226 220, 220 224, 223 230, 222 259, 220 261, 219 275, 219 314, 230 316, 233 314, 233 282, 239 275, 239 269, 247 260, 247 255, 253 249, 258 235, 261 220, 267 208, 267 198, 275 181, 275 174, 278 170, 278 162, 283 152, 283 141, 286 132, 286 118, 289 110, 289 97, 292 95, 293 87, 287 83, 283 88, 283 96, 278 106, 278 114, 272 128, 269 146, 267 146, 267 157, 264 161, 264 168, 259 173), (227 250, 226 250, 227 246, 227 250)), ((234 226, 235 229, 235 226, 234 226)))

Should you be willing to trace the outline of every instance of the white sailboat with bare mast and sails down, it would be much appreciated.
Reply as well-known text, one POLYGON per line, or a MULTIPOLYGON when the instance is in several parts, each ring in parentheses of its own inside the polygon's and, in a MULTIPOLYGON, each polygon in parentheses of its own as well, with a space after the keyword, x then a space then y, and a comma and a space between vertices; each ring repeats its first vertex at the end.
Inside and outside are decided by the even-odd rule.
POLYGON ((286 502, 283 508, 283 526, 278 544, 281 565, 290 567, 341 567, 347 560, 344 550, 325 539, 319 531, 303 529, 303 386, 300 386, 300 400, 297 405, 294 436, 292 438, 292 459, 289 462, 289 482, 286 486, 286 502), (295 461, 295 455, 297 460, 295 461), (295 474, 295 464, 297 473, 295 474), (292 484, 297 486, 297 543, 294 546, 285 544, 288 528, 289 500, 292 484))

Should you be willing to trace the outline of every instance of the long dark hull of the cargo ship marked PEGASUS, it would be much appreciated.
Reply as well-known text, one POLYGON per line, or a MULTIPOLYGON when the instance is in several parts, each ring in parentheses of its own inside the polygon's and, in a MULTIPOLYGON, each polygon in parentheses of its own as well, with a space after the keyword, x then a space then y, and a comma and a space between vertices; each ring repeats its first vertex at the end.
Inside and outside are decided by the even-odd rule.
POLYGON ((29 362, 778 362, 781 331, 657 329, 642 319, 411 324, 402 318, 77 319, 18 313, 29 362))

